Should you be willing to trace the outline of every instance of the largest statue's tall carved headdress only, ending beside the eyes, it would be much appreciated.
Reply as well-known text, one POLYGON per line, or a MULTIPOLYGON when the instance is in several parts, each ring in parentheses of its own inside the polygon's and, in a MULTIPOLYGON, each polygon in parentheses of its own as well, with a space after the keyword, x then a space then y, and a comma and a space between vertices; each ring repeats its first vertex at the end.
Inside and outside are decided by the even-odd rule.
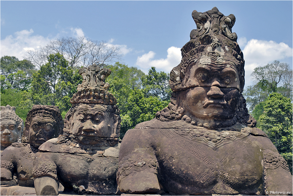
MULTIPOLYGON (((235 16, 224 16, 213 9, 201 13, 194 10, 193 20, 197 29, 190 33, 190 41, 181 49, 181 63, 170 72, 169 84, 173 92, 196 87, 189 84, 190 66, 198 60, 201 64, 214 63, 215 66, 231 65, 239 73, 240 83, 244 85, 244 59, 237 44, 237 35, 232 33, 235 16)), ((240 92, 243 86, 240 87, 240 92)))

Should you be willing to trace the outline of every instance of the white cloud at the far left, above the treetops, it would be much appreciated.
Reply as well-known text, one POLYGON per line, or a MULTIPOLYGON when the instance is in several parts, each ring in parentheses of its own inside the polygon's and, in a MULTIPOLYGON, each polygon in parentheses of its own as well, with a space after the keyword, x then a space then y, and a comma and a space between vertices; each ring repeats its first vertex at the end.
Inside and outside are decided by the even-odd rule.
POLYGON ((48 37, 41 35, 32 35, 33 30, 17 31, 14 35, 9 35, 1 40, 0 51, 1 56, 9 55, 15 56, 22 60, 27 49, 37 49, 39 46, 44 46, 51 40, 48 37))

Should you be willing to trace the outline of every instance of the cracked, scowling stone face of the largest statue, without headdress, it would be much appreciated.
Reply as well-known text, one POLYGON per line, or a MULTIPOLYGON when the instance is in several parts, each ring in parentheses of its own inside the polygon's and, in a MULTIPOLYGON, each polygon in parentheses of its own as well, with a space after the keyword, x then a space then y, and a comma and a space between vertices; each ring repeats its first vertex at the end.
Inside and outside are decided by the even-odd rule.
POLYGON ((189 82, 198 84, 186 90, 186 110, 202 119, 231 119, 240 101, 239 74, 233 66, 201 64, 193 66, 189 82))

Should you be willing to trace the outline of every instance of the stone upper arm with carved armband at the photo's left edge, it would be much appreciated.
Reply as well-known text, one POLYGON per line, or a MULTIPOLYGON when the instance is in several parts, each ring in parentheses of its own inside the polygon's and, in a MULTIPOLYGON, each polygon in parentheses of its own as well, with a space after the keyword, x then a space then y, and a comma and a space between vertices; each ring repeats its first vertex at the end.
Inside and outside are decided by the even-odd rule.
POLYGON ((13 179, 14 174, 14 163, 12 162, 14 159, 14 147, 9 146, 1 153, 0 160, 0 180, 1 181, 10 181, 13 179))

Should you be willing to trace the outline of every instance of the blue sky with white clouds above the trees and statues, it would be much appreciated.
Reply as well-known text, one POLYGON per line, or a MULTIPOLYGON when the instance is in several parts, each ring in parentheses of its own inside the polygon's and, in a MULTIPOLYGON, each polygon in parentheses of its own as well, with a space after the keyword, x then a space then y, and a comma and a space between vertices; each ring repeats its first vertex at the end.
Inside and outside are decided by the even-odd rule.
POLYGON ((256 66, 274 60, 292 67, 293 1, 0 1, 1 57, 22 60, 58 37, 84 35, 123 52, 128 66, 145 73, 151 66, 170 72, 180 63, 180 48, 196 29, 193 10, 216 6, 234 14, 232 28, 245 59, 245 86, 256 66))

